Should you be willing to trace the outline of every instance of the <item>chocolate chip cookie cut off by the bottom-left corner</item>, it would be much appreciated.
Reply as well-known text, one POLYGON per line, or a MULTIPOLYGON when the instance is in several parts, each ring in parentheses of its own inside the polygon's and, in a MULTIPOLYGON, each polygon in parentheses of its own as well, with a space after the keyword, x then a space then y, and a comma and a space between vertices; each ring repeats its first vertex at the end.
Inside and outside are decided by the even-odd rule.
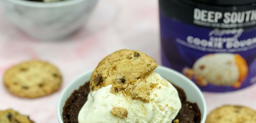
POLYGON ((34 121, 30 120, 28 116, 7 109, 6 111, 0 111, 0 123, 34 123, 34 121))

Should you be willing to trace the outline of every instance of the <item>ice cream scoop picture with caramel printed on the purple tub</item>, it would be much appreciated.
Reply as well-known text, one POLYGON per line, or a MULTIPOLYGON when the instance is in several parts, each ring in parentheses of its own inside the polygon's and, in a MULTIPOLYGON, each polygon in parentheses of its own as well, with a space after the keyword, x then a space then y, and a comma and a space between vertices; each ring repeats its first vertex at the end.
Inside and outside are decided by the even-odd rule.
POLYGON ((233 86, 239 88, 248 74, 248 65, 239 54, 216 53, 199 58, 193 68, 184 68, 183 73, 194 79, 198 86, 233 86))

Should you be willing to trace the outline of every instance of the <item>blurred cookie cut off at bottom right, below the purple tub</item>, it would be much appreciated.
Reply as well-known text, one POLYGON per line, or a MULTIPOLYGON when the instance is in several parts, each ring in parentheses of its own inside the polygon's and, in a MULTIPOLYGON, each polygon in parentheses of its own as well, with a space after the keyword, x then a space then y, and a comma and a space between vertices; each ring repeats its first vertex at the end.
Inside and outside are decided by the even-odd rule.
POLYGON ((205 123, 256 123, 256 111, 243 106, 226 105, 213 110, 205 123))

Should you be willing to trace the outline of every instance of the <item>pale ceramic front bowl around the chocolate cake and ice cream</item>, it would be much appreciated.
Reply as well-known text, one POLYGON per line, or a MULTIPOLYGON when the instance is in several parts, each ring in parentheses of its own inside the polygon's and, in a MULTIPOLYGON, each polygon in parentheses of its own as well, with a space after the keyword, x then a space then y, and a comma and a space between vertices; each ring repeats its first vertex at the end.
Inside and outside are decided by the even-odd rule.
MULTIPOLYGON (((169 80, 175 85, 182 88, 187 95, 188 101, 197 103, 201 111, 201 123, 204 123, 206 119, 206 103, 200 89, 187 77, 173 69, 158 66, 155 71, 162 77, 164 77, 166 80, 169 80)), ((91 74, 92 71, 89 71, 83 75, 80 75, 74 81, 72 81, 72 83, 70 83, 62 92, 57 107, 59 123, 63 123, 62 111, 67 98, 69 98, 73 91, 78 89, 80 86, 84 85, 86 81, 89 81, 91 74)))

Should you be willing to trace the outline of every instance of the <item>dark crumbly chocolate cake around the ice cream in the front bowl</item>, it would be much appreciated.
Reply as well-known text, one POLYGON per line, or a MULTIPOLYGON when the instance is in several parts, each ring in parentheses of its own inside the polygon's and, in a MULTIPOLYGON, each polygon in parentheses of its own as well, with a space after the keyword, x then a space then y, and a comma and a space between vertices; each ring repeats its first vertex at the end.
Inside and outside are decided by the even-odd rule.
MULTIPOLYGON (((200 123, 201 112, 196 103, 187 101, 186 94, 183 89, 173 85, 178 93, 182 103, 182 107, 175 120, 172 123, 200 123)), ((80 86, 75 90, 70 97, 66 100, 63 107, 62 117, 64 123, 78 123, 78 113, 87 101, 87 96, 90 92, 89 82, 80 86)))

